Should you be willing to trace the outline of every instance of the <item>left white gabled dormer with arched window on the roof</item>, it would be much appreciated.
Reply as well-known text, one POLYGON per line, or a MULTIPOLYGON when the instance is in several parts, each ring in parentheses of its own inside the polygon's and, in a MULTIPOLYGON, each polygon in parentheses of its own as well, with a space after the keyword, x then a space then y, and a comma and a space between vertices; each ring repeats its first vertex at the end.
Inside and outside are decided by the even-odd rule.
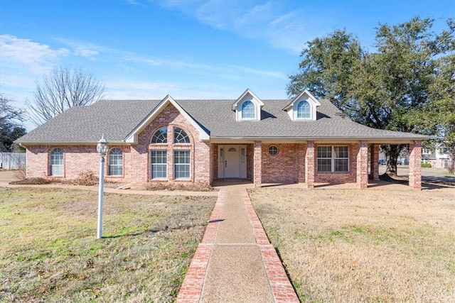
POLYGON ((247 89, 232 104, 236 121, 260 121, 261 109, 264 103, 250 89, 247 89))

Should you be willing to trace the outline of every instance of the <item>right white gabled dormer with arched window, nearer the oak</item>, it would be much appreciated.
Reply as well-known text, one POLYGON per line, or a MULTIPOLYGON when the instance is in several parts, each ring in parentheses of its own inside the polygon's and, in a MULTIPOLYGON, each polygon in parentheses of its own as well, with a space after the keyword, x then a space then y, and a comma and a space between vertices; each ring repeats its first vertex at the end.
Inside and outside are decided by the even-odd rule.
POLYGON ((308 90, 304 90, 296 97, 291 99, 289 104, 284 107, 292 121, 314 121, 316 120, 316 108, 321 103, 308 90))

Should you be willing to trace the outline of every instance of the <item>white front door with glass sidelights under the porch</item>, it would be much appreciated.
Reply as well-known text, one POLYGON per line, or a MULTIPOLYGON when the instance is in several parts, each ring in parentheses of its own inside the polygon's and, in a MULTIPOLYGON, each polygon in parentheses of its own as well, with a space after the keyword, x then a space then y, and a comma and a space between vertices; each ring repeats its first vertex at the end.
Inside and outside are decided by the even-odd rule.
POLYGON ((245 145, 221 145, 218 148, 218 178, 246 178, 245 145))

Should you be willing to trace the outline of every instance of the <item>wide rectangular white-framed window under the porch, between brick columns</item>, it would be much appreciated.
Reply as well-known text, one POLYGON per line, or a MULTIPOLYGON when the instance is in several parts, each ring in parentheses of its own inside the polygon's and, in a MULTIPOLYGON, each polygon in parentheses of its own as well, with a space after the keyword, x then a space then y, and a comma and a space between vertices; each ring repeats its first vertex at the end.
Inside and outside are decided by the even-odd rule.
POLYGON ((348 172, 348 146, 318 146, 318 172, 348 172))

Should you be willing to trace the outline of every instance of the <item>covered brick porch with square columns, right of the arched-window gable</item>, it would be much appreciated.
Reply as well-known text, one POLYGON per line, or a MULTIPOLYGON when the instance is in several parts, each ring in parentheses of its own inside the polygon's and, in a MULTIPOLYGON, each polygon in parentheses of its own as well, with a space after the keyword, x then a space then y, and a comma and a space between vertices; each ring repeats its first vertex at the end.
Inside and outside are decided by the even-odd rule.
MULTIPOLYGON (((400 142, 403 144, 403 142, 400 142)), ((409 148, 409 187, 422 188, 422 141, 407 142, 409 148)), ((379 148, 386 142, 253 141, 211 144, 213 184, 223 180, 246 180, 254 187, 273 184, 301 184, 313 188, 327 184, 350 184, 356 188, 378 186, 379 148), (318 146, 346 146, 346 171, 321 172, 318 146), (232 166, 235 167, 232 169, 232 166)))

